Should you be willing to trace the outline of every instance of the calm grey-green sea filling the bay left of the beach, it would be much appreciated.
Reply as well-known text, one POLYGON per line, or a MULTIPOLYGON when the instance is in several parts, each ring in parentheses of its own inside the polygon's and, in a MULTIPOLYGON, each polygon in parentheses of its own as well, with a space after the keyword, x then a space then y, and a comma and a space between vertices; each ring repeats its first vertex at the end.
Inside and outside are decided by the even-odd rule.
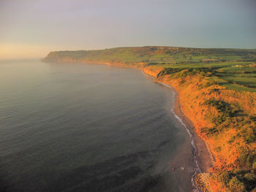
POLYGON ((173 93, 139 70, 0 63, 1 191, 191 191, 173 93))

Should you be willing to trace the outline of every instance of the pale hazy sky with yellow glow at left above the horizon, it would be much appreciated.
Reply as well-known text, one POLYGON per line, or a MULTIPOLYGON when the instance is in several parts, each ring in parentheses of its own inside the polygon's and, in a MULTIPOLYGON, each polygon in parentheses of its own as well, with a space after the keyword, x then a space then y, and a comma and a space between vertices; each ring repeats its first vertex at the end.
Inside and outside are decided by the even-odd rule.
POLYGON ((256 0, 0 0, 0 59, 146 45, 256 48, 256 0))

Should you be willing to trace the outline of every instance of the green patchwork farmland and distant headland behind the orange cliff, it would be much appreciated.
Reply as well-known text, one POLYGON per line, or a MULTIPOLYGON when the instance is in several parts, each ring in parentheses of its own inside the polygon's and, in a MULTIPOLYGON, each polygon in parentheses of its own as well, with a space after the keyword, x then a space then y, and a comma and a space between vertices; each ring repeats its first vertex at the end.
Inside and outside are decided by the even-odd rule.
POLYGON ((44 59, 73 58, 78 61, 109 61, 162 67, 165 74, 200 69, 209 80, 236 91, 256 92, 256 49, 203 49, 187 47, 118 47, 105 50, 51 52, 44 59))

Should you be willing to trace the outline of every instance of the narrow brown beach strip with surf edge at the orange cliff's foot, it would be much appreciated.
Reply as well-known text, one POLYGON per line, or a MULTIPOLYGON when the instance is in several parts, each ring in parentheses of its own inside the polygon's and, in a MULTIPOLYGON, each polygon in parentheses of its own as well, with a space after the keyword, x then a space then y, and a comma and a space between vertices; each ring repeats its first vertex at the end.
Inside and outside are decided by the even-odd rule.
MULTIPOLYGON (((154 75, 144 72, 143 69, 141 69, 140 71, 146 76, 154 77, 154 75)), ((157 80, 157 77, 154 77, 154 82, 170 88, 170 91, 173 92, 174 98, 172 99, 174 100, 174 102, 173 108, 171 108, 170 111, 173 113, 176 119, 178 119, 181 124, 183 124, 183 126, 187 129, 187 133, 189 134, 195 162, 195 172, 191 178, 192 186, 195 189, 192 191, 211 192, 211 188, 208 185, 211 166, 213 166, 214 162, 214 156, 212 155, 211 150, 209 149, 207 143, 198 136, 192 120, 190 120, 187 115, 185 115, 182 111, 178 91, 176 91, 176 89, 168 83, 157 80)))

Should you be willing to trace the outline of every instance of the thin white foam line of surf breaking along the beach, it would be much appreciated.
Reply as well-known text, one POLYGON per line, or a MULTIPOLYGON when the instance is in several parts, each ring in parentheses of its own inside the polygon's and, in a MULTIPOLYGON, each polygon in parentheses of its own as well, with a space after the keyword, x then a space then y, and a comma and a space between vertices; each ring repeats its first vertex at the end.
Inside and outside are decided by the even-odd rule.
MULTIPOLYGON (((146 74, 145 72, 143 72, 143 70, 140 70, 140 72, 142 72, 144 75, 146 76, 149 76, 149 77, 153 77, 149 74, 146 74)), ((155 78, 155 77, 154 77, 155 78)), ((200 173, 202 172, 199 165, 198 165, 198 161, 197 161, 197 146, 195 145, 195 140, 192 136, 192 133, 191 133, 191 128, 187 125, 187 123, 185 123, 180 117, 178 117, 178 115, 176 115, 176 113, 174 112, 174 105, 175 105, 175 98, 176 98, 176 91, 173 91, 173 88, 170 86, 170 85, 167 85, 163 82, 157 82, 161 85, 164 85, 165 87, 167 88, 170 88, 170 91, 173 93, 173 107, 170 108, 170 112, 173 113, 174 117, 179 121, 181 122, 181 124, 186 128, 187 130, 187 133, 189 134, 189 138, 190 138, 190 141, 191 141, 191 145, 193 147, 193 157, 194 157, 194 162, 195 162, 195 172, 194 174, 192 175, 192 178, 191 178, 191 183, 192 183, 192 186, 195 188, 192 190, 192 192, 200 192, 200 190, 197 188, 197 185, 195 185, 195 180, 194 180, 194 177, 197 173, 200 173)))

